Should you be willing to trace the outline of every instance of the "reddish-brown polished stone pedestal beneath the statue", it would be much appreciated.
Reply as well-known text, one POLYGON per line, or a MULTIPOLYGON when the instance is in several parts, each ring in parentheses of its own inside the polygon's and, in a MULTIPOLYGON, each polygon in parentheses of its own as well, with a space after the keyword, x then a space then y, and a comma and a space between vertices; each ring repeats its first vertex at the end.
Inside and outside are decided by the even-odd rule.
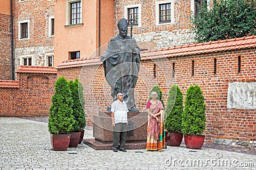
MULTIPOLYGON (((146 148, 147 118, 147 112, 128 113, 125 149, 146 148)), ((93 117, 93 137, 93 139, 84 139, 83 143, 95 150, 112 150, 113 127, 110 112, 99 111, 99 116, 93 117)))

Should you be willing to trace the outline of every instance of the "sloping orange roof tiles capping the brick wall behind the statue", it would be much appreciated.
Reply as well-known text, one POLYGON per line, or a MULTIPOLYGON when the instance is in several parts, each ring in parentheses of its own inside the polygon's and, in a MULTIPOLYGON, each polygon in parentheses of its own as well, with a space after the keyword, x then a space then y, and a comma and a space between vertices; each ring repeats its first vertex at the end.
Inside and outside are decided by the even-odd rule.
MULTIPOLYGON (((225 39, 182 46, 173 46, 168 48, 159 48, 154 50, 145 50, 141 52, 141 60, 191 55, 195 53, 211 53, 239 48, 251 48, 254 46, 256 46, 256 36, 248 36, 243 38, 225 39)), ((97 56, 90 59, 63 61, 59 66, 56 67, 56 69, 99 64, 102 64, 102 62, 99 60, 99 56, 97 56)))

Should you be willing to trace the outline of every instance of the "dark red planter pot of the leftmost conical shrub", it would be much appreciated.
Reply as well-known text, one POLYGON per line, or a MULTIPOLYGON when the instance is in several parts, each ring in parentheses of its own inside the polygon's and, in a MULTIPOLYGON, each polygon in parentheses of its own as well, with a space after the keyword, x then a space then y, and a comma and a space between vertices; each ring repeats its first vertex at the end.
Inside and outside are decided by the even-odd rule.
POLYGON ((70 134, 51 134, 53 150, 67 150, 70 143, 70 134))

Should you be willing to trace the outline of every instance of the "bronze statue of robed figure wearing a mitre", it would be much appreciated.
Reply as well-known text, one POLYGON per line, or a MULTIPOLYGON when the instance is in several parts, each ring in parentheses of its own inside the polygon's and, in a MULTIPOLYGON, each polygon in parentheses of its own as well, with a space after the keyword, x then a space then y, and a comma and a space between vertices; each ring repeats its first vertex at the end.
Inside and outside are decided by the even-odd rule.
POLYGON ((118 93, 122 93, 129 111, 139 111, 135 106, 134 88, 140 70, 140 48, 131 37, 132 34, 127 36, 128 23, 125 18, 119 20, 117 26, 119 34, 110 39, 100 60, 103 62, 106 80, 111 86, 113 101, 116 101, 118 93))

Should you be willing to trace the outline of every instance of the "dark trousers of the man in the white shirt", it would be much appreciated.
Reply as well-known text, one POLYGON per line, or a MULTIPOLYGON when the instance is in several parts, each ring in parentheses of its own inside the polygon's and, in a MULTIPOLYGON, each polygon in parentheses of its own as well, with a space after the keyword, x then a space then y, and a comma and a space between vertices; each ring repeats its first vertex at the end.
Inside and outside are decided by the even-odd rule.
POLYGON ((125 140, 127 134, 127 123, 117 123, 113 128, 113 149, 118 148, 120 141, 120 150, 124 150, 125 140))

